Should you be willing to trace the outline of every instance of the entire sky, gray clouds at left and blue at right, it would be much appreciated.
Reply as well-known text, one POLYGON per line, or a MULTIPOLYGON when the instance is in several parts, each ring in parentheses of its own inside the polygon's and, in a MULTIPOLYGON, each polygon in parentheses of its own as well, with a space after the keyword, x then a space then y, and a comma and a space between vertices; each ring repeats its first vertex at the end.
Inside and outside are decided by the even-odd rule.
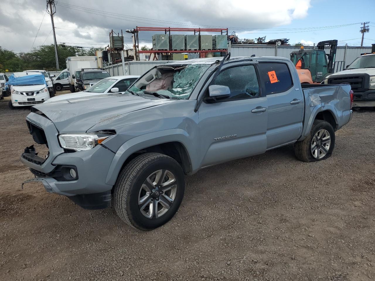
MULTIPOLYGON (((2 48, 27 52, 53 42, 45 0, 0 3, 2 48)), ((106 46, 111 29, 121 32, 136 26, 228 27, 240 38, 267 36, 266 40, 288 38, 290 43, 306 44, 338 39, 339 45, 358 46, 363 21, 370 21, 364 45, 375 43, 374 0, 362 0, 360 6, 352 0, 55 0, 55 4, 57 42, 73 46, 106 46)), ((152 34, 139 33, 140 45, 151 46, 152 34)), ((130 35, 124 34, 128 46, 130 35)))

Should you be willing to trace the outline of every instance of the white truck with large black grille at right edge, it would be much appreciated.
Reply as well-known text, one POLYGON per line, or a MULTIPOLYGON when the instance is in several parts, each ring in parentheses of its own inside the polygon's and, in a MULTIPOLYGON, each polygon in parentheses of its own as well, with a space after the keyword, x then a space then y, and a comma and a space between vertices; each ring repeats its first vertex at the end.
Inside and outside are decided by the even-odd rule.
POLYGON ((354 91, 353 106, 375 106, 375 54, 361 55, 345 70, 333 73, 323 84, 350 84, 354 91))

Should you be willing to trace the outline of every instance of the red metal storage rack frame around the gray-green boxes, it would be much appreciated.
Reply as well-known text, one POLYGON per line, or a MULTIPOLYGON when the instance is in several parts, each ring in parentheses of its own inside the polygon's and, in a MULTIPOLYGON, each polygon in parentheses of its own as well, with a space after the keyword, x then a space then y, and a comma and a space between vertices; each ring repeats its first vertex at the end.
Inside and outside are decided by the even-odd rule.
MULTIPOLYGON (((223 50, 217 49, 210 49, 210 50, 202 50, 202 49, 185 49, 185 50, 150 50, 150 51, 141 51, 139 50, 139 31, 164 31, 165 34, 171 35, 171 32, 179 31, 179 32, 193 32, 194 35, 201 35, 201 32, 217 32, 220 35, 228 36, 228 28, 178 28, 178 27, 136 27, 133 30, 127 30, 127 32, 133 34, 133 42, 134 42, 134 54, 135 59, 139 60, 139 54, 151 54, 148 60, 151 57, 152 60, 157 60, 157 54, 164 54, 164 55, 171 55, 174 53, 199 53, 200 58, 204 58, 207 53, 209 52, 223 52, 223 50)), ((211 39, 212 44, 212 39, 211 39)), ((227 52, 225 50, 224 52, 227 52)))

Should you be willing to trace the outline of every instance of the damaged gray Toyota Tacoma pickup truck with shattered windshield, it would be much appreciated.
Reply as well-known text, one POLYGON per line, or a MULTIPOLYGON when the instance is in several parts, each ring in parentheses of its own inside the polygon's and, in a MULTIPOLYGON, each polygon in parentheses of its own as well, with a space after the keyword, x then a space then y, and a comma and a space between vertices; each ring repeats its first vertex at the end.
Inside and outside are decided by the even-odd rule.
POLYGON ((177 61, 126 94, 33 106, 27 126, 48 154, 31 145, 21 161, 35 175, 26 182, 86 209, 112 202, 124 222, 151 230, 177 211, 184 175, 289 144, 302 161, 330 157, 351 98, 347 84, 301 85, 285 58, 177 61))

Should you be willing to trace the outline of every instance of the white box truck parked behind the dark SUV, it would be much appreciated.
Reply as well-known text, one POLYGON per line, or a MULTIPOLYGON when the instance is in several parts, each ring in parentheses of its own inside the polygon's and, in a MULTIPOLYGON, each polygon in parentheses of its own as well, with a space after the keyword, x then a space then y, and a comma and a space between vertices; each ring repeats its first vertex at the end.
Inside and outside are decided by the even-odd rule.
POLYGON ((98 57, 96 56, 82 56, 82 57, 67 57, 66 69, 69 72, 69 90, 74 93, 77 89, 76 78, 80 76, 83 68, 98 68, 98 57))

